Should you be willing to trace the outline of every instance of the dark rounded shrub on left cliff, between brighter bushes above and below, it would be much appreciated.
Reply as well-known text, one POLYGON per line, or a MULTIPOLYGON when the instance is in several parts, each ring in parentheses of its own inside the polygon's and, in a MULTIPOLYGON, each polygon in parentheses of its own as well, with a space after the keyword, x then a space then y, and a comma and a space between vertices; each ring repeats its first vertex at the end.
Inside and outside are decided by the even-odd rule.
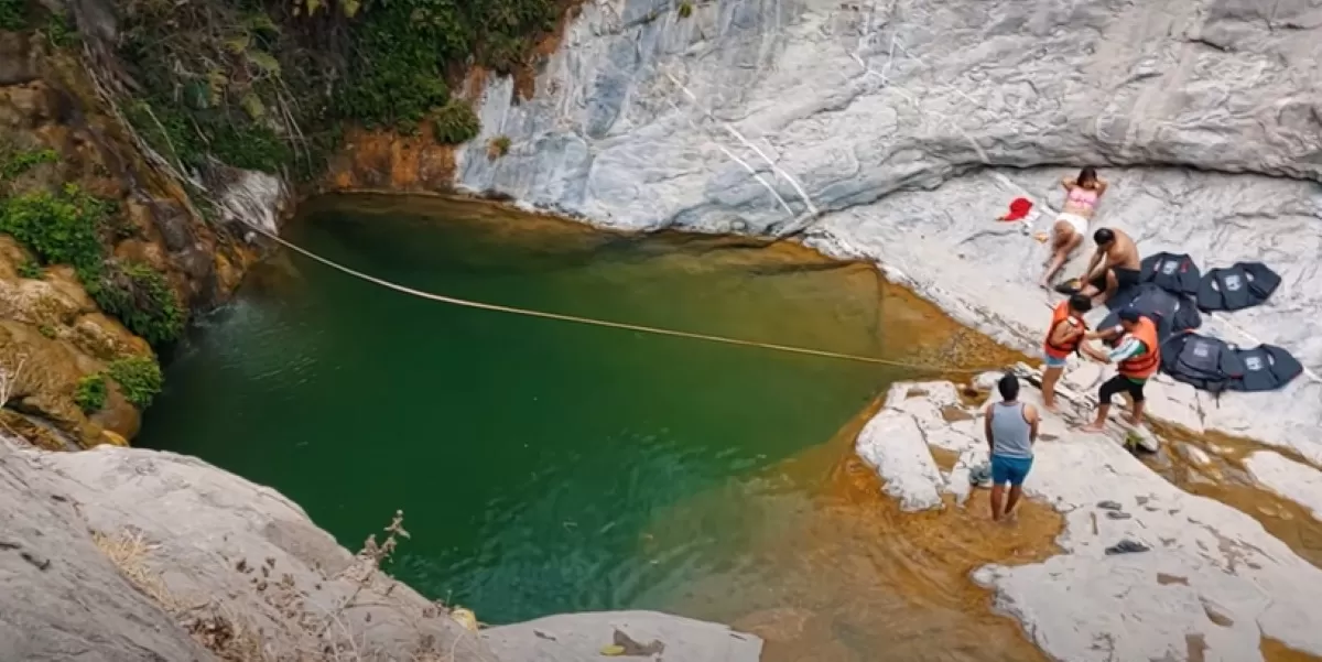
POLYGON ((184 332, 184 312, 161 272, 140 262, 106 266, 87 292, 107 314, 153 346, 172 342, 184 332))

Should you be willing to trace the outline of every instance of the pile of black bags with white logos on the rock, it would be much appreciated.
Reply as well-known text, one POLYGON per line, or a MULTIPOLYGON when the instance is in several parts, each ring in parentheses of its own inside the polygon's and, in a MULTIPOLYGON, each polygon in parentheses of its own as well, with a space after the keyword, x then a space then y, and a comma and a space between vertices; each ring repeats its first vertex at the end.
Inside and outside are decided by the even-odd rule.
POLYGON ((1133 309, 1155 324, 1161 370, 1173 379, 1211 392, 1273 391, 1303 371, 1289 351, 1274 345, 1237 348, 1194 329, 1203 324, 1199 311, 1251 308, 1280 284, 1281 276, 1260 262, 1202 274, 1188 255, 1158 252, 1144 259, 1138 285, 1116 292, 1099 328, 1117 325, 1120 311, 1133 309))

